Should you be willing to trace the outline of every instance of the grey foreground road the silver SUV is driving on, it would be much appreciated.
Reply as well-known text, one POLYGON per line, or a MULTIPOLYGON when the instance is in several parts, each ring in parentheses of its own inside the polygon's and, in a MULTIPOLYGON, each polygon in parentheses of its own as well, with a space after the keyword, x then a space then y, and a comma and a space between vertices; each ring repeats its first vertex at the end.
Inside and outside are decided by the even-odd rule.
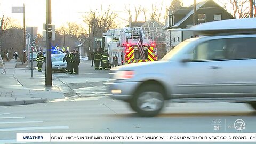
POLYGON ((256 130, 256 114, 241 103, 173 103, 153 118, 138 117, 126 103, 107 96, 66 98, 0 109, 0 143, 15 143, 16 133, 255 133, 256 130), (243 119, 245 129, 230 127, 237 119, 243 119), (214 130, 217 121, 220 127, 214 130))

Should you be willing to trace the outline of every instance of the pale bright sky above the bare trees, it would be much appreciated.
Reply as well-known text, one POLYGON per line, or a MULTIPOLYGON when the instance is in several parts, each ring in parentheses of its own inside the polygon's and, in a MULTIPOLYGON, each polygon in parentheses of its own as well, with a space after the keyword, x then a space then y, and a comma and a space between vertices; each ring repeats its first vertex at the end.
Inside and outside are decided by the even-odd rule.
MULTIPOLYGON (((202 0, 196 0, 200 2, 202 0)), ((183 0, 184 6, 193 4, 194 0, 183 0)), ((110 5, 111 9, 118 13, 119 17, 127 19, 128 16, 124 12, 125 5, 130 6, 131 10, 136 5, 151 8, 151 5, 161 7, 163 5, 163 14, 165 7, 170 5, 171 1, 167 0, 129 0, 129 1, 114 1, 114 0, 52 0, 52 24, 59 28, 67 22, 75 22, 86 27, 83 22, 83 15, 86 15, 91 10, 107 9, 110 5)), ((23 14, 12 13, 12 7, 22 7, 25 4, 25 23, 26 26, 38 27, 38 33, 42 34, 43 23, 46 21, 46 1, 45 0, 0 0, 0 15, 12 18, 15 23, 23 27, 23 14)), ((143 14, 138 21, 143 21, 143 14)), ((124 27, 127 23, 121 19, 118 20, 119 27, 124 27)))

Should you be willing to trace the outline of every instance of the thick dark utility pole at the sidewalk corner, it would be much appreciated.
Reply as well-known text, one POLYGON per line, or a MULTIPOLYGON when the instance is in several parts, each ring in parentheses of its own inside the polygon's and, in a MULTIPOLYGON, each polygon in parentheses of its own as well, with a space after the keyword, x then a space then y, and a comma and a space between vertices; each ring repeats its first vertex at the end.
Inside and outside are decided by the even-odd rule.
POLYGON ((46 74, 45 86, 52 86, 52 5, 46 0, 46 74))

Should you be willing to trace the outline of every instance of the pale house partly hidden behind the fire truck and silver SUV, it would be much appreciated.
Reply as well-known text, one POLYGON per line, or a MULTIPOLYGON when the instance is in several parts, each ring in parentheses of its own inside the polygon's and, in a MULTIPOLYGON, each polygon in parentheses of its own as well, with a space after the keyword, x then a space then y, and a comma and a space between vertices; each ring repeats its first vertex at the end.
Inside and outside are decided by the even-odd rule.
POLYGON ((157 45, 158 59, 165 55, 165 30, 164 24, 151 19, 148 21, 135 21, 130 23, 131 27, 142 27, 145 38, 152 39, 157 45), (162 52, 163 51, 163 52, 162 52))

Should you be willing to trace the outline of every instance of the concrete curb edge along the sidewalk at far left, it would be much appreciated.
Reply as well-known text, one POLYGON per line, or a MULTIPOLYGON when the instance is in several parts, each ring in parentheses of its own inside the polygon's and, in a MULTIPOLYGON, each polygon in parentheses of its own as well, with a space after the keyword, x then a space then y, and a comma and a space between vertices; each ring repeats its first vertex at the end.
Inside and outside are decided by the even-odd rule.
POLYGON ((34 99, 34 100, 16 100, 0 102, 0 106, 14 106, 14 105, 29 105, 35 103, 45 103, 47 99, 34 99))

